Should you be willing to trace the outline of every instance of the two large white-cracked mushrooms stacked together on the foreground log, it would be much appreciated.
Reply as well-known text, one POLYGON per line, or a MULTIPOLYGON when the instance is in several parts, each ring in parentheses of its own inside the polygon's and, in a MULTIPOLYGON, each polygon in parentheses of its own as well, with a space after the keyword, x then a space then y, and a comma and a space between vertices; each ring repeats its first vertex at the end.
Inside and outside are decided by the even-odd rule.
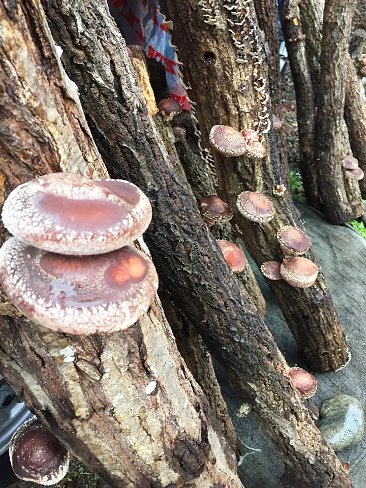
POLYGON ((15 237, 0 250, 0 281, 15 306, 70 334, 126 329, 158 288, 150 258, 131 243, 151 205, 123 180, 54 173, 20 185, 3 208, 15 237))

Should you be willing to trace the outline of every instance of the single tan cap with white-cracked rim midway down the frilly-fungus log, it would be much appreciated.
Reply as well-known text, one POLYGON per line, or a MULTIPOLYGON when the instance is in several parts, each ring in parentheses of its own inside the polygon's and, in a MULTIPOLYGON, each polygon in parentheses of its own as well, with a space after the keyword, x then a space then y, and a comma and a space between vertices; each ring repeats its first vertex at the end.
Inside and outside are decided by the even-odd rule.
POLYGON ((275 215, 272 202, 262 193, 242 192, 237 198, 236 205, 240 214, 252 222, 269 222, 275 215))

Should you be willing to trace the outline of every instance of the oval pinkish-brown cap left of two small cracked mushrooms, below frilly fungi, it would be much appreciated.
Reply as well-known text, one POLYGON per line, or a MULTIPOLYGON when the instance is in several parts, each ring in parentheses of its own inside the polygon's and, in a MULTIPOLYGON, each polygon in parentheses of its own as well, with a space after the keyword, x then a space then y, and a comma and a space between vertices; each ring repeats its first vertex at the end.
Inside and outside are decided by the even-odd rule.
POLYGON ((247 141, 232 127, 214 126, 209 133, 209 142, 218 153, 233 158, 243 155, 247 150, 247 141))

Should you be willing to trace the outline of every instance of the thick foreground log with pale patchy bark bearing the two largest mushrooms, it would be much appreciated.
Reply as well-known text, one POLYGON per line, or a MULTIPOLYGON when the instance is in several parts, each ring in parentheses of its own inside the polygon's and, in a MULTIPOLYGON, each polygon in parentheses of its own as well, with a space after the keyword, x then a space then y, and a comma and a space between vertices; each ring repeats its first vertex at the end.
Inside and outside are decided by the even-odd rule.
MULTIPOLYGON (((39 2, 2 3, 3 200, 50 171, 108 176, 56 52, 39 2)), ((142 239, 140 246, 148 252, 142 239)), ((232 446, 179 355, 158 298, 128 330, 90 337, 32 323, 2 292, 0 312, 0 373, 112 488, 242 486, 232 446), (151 381, 156 388, 147 395, 151 381)))

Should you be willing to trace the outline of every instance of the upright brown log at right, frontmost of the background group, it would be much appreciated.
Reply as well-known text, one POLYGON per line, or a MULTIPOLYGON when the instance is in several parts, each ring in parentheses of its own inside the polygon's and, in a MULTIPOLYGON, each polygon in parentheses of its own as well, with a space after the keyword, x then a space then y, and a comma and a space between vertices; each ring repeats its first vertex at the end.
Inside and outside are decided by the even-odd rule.
POLYGON ((322 209, 328 222, 344 224, 363 214, 361 195, 355 189, 347 195, 342 170, 342 139, 346 77, 344 61, 348 54, 355 1, 328 0, 324 9, 320 55, 320 80, 315 145, 322 209))

